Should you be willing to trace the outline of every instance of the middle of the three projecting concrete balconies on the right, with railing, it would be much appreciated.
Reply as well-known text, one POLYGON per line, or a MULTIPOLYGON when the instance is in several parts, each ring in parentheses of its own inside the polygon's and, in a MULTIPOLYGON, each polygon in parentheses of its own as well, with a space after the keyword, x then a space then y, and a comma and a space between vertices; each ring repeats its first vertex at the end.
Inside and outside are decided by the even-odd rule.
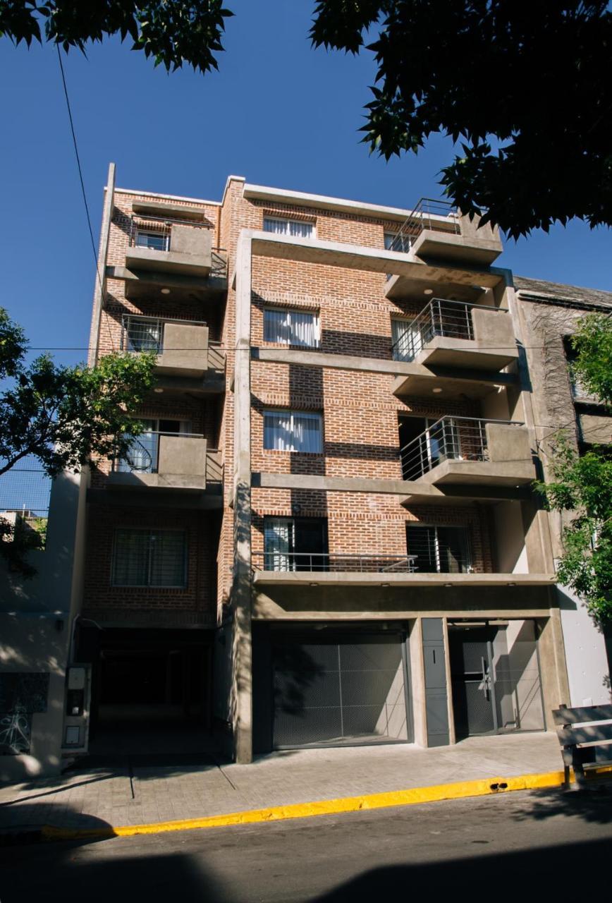
POLYGON ((500 370, 518 358, 512 319, 501 308, 432 298, 402 325, 393 346, 398 361, 500 370))

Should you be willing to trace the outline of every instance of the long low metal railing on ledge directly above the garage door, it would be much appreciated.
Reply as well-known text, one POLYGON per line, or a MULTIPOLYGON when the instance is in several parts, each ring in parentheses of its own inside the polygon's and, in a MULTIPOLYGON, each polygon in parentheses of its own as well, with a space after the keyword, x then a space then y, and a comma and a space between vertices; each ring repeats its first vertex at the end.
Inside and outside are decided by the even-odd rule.
POLYGON ((329 554, 327 552, 254 552, 255 571, 327 571, 334 573, 413 573, 415 555, 329 554))

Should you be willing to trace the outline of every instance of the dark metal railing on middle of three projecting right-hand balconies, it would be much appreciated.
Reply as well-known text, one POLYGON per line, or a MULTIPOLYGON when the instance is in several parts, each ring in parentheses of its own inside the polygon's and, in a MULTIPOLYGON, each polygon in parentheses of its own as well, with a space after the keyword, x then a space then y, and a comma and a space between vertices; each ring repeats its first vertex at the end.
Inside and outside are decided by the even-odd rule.
POLYGON ((392 345, 394 360, 412 361, 436 336, 448 339, 474 339, 472 311, 505 313, 505 308, 488 307, 446 298, 431 298, 413 320, 405 322, 405 330, 392 345))

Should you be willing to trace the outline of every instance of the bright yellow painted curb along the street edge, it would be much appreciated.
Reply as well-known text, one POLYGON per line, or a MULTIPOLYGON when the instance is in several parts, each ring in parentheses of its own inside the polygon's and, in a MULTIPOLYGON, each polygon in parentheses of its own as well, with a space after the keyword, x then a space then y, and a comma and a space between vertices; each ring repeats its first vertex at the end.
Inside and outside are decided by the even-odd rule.
POLYGON ((207 818, 187 818, 174 822, 153 824, 126 824, 103 828, 42 828, 44 840, 88 840, 104 837, 132 837, 134 834, 156 834, 166 831, 193 831, 199 828, 222 828, 232 824, 257 824, 276 822, 287 818, 310 818, 313 815, 339 815, 366 809, 383 809, 394 805, 435 803, 444 799, 461 799, 465 796, 487 796, 507 793, 511 790, 534 790, 543 787, 560 787, 562 771, 515 777, 487 777, 476 781, 459 781, 457 784, 438 784, 433 787, 411 787, 408 790, 392 790, 388 793, 366 796, 344 796, 339 799, 318 800, 312 803, 275 805, 266 809, 248 809, 226 815, 209 815, 207 818))

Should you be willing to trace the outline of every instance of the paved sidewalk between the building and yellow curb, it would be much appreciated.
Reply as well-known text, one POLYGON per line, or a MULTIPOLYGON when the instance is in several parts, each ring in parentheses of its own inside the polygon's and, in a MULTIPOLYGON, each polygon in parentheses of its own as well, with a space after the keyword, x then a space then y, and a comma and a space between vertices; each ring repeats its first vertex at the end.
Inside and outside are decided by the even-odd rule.
POLYGON ((0 787, 0 830, 88 829, 201 819, 269 806, 561 770, 554 734, 470 738, 456 746, 300 749, 251 765, 140 765, 70 771, 0 787))

